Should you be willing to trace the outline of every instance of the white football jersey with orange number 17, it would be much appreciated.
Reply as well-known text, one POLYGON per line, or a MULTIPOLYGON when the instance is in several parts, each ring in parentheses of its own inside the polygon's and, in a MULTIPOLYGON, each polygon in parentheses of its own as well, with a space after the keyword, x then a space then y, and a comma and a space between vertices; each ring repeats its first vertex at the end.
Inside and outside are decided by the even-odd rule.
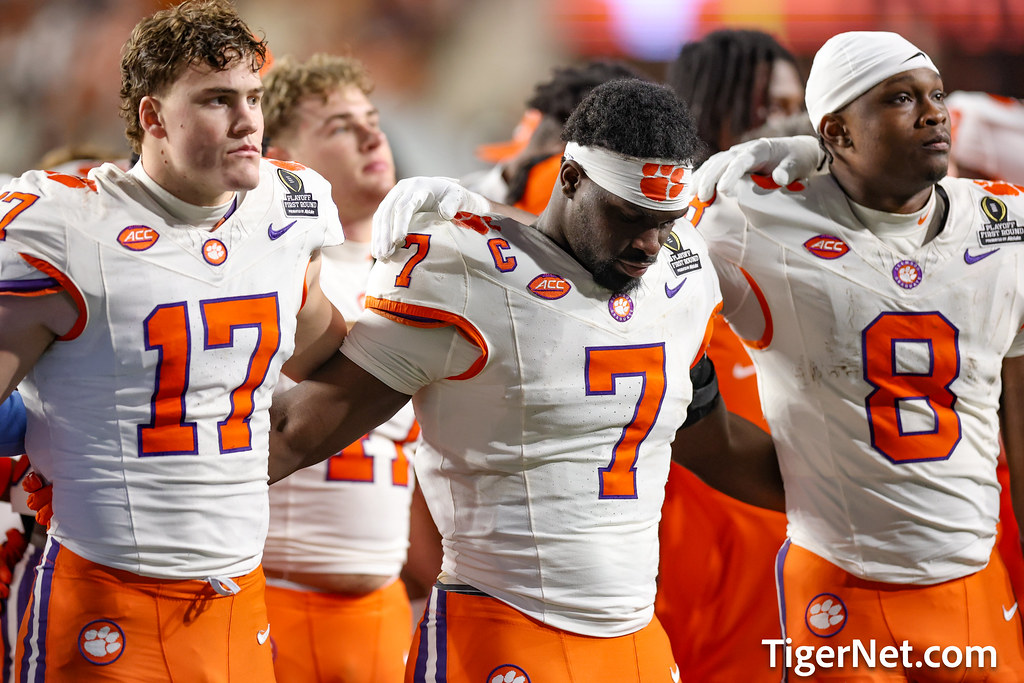
POLYGON ((310 255, 342 240, 328 183, 263 161, 214 230, 178 224, 113 164, 27 173, 0 202, 0 239, 82 311, 20 385, 28 452, 53 481, 50 533, 147 577, 254 569, 270 394, 310 255))

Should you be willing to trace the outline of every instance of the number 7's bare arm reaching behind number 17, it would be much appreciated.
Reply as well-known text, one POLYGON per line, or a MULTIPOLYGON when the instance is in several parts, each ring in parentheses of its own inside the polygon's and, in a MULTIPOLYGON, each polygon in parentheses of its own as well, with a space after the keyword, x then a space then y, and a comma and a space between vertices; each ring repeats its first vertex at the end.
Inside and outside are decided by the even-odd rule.
POLYGON ((409 402, 336 352, 270 407, 270 483, 327 460, 409 402))

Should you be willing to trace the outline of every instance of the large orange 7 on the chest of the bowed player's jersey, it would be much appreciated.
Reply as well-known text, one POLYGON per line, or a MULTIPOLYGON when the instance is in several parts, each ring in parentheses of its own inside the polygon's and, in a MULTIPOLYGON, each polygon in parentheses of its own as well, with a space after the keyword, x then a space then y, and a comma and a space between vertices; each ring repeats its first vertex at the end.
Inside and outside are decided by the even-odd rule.
POLYGON ((665 344, 587 348, 587 395, 615 393, 621 377, 642 378, 633 419, 611 452, 607 467, 598 468, 599 498, 636 498, 636 462, 640 444, 657 420, 665 398, 665 344))

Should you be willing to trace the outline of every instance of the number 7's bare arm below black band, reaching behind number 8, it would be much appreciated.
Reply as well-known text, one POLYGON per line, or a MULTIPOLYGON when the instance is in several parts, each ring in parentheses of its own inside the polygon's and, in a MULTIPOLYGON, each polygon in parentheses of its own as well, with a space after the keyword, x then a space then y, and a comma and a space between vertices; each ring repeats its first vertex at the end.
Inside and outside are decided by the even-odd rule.
POLYGON ((672 459, 726 496, 785 511, 785 492, 771 436, 718 404, 700 421, 676 432, 672 459))

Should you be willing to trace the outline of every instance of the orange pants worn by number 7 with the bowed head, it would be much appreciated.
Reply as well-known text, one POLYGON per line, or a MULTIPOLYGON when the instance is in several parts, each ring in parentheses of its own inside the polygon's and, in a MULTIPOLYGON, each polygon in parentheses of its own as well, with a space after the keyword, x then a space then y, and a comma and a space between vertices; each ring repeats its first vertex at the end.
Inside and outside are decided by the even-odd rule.
POLYGON ((657 618, 627 636, 581 636, 501 600, 436 586, 406 669, 407 683, 671 683, 679 676, 657 618))

